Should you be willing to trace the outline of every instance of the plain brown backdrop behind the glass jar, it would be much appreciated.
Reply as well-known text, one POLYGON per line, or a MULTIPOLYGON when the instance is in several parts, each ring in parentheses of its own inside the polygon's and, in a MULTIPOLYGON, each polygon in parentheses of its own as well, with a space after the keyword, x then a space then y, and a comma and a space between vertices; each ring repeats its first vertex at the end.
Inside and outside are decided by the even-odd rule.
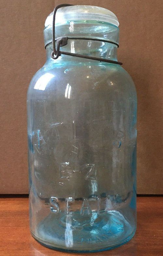
POLYGON ((101 6, 117 15, 118 59, 138 93, 138 193, 163 193, 161 0, 0 1, 0 193, 28 193, 26 92, 46 59, 45 19, 61 3, 101 6))

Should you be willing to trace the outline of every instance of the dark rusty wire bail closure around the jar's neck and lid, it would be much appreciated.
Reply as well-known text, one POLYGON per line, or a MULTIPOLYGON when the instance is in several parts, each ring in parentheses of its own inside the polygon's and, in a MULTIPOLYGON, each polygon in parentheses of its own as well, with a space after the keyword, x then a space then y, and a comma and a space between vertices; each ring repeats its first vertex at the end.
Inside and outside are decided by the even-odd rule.
POLYGON ((49 44, 52 43, 52 45, 53 45, 53 51, 52 51, 52 54, 51 54, 52 59, 56 60, 56 59, 58 59, 59 56, 61 56, 61 54, 64 54, 64 55, 80 57, 80 58, 89 59, 89 60, 95 60, 95 61, 100 61, 100 62, 102 61, 102 62, 108 62, 108 63, 122 65, 122 62, 118 62, 118 61, 112 61, 112 60, 103 59, 103 58, 97 58, 97 57, 93 57, 93 56, 87 56, 87 55, 82 55, 82 54, 77 54, 77 53, 60 51, 60 47, 67 45, 68 39, 101 41, 101 42, 106 42, 106 43, 114 44, 114 45, 117 46, 117 48, 119 47, 119 45, 117 43, 112 42, 110 40, 105 40, 105 39, 102 40, 102 39, 87 38, 87 37, 58 37, 57 39, 55 39, 55 16, 56 16, 56 12, 57 12, 57 10, 59 8, 67 7, 67 6, 74 6, 74 5, 70 5, 70 4, 57 5, 54 8, 54 11, 53 11, 52 42, 49 42, 47 45, 45 45, 45 49, 46 49, 46 47, 49 44), (57 42, 57 48, 55 47, 55 42, 57 42))

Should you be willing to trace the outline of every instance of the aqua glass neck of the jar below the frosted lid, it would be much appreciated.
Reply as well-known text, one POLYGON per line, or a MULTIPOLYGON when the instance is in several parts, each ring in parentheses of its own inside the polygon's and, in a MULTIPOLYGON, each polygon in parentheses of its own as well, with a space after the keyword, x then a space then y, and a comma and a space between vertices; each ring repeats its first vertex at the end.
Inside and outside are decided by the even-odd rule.
MULTIPOLYGON (((86 37, 95 38, 100 40, 109 40, 116 44, 119 42, 119 29, 111 24, 97 23, 92 21, 90 23, 79 23, 71 21, 67 24, 56 26, 55 36, 68 36, 68 37, 86 37)), ((45 45, 52 41, 52 26, 48 26, 44 29, 45 45)), ((51 58, 52 43, 46 47, 47 59, 51 58)), ((68 39, 66 46, 60 47, 61 51, 77 53, 87 56, 93 56, 97 58, 104 58, 117 61, 117 46, 108 42, 93 41, 93 40, 81 40, 81 39, 68 39)), ((76 62, 79 61, 78 57, 72 57, 67 55, 61 55, 58 60, 70 60, 76 62)), ((81 60, 81 59, 80 59, 81 60)), ((83 59, 87 61, 87 59, 83 59)))

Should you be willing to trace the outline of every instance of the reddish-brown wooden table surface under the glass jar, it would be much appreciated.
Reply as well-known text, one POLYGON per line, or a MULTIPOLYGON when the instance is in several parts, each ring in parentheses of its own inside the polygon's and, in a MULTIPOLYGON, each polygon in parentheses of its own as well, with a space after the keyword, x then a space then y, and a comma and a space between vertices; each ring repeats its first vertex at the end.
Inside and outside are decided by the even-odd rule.
POLYGON ((127 244, 100 253, 65 253, 43 247, 32 238, 28 225, 28 198, 0 198, 0 255, 163 255, 163 197, 138 197, 137 211, 137 232, 127 244))

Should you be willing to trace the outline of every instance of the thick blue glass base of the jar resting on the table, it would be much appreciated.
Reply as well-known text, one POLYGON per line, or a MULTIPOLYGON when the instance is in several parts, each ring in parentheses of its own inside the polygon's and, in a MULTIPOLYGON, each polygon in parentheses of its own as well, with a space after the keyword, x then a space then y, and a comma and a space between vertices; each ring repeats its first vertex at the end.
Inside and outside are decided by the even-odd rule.
POLYGON ((43 246, 65 252, 87 253, 110 250, 127 243, 136 231, 136 228, 117 211, 108 213, 106 222, 101 216, 101 221, 98 220, 92 228, 85 225, 85 229, 73 230, 71 225, 62 229, 52 218, 53 216, 49 215, 38 225, 38 235, 33 232, 31 234, 43 246))

